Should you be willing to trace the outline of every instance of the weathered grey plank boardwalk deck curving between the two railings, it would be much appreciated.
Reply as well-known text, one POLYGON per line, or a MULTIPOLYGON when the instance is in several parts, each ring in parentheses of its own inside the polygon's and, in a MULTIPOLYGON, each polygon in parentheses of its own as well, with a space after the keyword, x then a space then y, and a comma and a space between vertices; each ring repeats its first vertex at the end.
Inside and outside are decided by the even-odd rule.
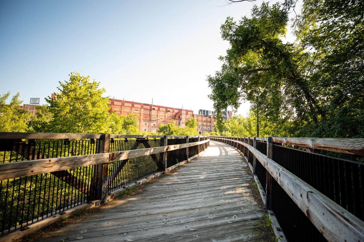
POLYGON ((265 241, 258 229, 265 216, 247 187, 246 167, 235 149, 210 141, 202 155, 143 192, 42 241, 265 241))

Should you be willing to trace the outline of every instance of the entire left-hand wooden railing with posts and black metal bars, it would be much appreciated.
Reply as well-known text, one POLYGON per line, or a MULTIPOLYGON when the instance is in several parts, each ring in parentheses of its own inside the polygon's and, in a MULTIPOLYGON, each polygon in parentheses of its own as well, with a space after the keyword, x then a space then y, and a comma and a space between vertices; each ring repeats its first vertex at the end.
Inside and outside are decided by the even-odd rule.
POLYGON ((207 136, 0 133, 0 241, 108 201, 208 145, 207 136))

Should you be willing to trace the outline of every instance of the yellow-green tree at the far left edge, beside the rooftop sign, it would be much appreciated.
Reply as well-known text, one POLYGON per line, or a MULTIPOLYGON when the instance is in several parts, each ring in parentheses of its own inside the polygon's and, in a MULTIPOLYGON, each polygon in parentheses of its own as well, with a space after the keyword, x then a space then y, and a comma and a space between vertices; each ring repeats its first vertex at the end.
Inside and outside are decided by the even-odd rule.
POLYGON ((23 102, 19 100, 19 93, 14 95, 9 104, 5 104, 10 92, 0 95, 0 132, 25 132, 30 115, 19 108, 23 102))

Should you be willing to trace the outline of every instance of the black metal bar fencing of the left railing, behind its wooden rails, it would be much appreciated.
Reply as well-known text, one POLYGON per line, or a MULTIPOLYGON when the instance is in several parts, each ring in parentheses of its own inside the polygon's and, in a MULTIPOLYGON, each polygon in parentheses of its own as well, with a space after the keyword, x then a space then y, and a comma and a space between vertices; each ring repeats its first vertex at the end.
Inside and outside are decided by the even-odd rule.
MULTIPOLYGON (((95 135, 95 137, 100 138, 100 135, 95 135)), ((100 144, 102 144, 99 138, 39 140, 0 138, 0 159, 1 163, 12 163, 96 154, 99 153, 100 144)), ((197 140, 198 138, 191 138, 190 143, 197 140)), ((186 138, 168 139, 168 145, 183 143, 186 143, 186 138)), ((110 152, 154 148, 164 145, 163 136, 159 138, 111 138, 110 152)), ((205 143, 200 146, 207 147, 207 145, 205 143)), ((200 151, 202 150, 200 149, 200 151)), ((189 147, 189 151, 190 156, 197 155, 198 145, 189 147)), ((186 148, 169 151, 167 167, 186 159, 186 148)), ((164 170, 163 152, 111 161, 107 167, 107 193, 110 194, 125 188, 164 170)), ((18 229, 27 229, 28 225, 39 220, 55 214, 62 214, 67 209, 99 199, 100 186, 96 181, 98 173, 98 165, 87 165, 63 171, 1 180, 1 235, 18 229)))

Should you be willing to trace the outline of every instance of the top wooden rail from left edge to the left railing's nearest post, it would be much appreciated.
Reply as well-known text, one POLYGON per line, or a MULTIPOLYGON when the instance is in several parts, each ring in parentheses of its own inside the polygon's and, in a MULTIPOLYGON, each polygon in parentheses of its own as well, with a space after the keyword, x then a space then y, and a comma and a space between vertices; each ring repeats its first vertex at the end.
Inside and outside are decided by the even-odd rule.
POLYGON ((0 132, 0 139, 99 139, 102 134, 0 132))

